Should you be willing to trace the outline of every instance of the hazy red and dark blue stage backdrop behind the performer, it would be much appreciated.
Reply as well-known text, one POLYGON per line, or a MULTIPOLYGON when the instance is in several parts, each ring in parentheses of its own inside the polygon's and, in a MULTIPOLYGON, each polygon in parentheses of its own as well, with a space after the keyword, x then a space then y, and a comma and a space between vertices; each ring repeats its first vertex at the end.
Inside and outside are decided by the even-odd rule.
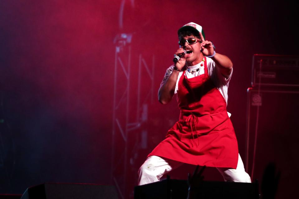
MULTIPOLYGON (((131 109, 139 54, 149 63, 155 57, 148 147, 130 171, 136 185, 139 166, 178 118, 176 100, 161 105, 156 93, 178 48, 177 30, 191 21, 234 63, 227 109, 244 157, 253 54, 299 54, 297 2, 1 1, 0 192, 21 194, 44 182, 113 184, 113 40, 120 33, 133 35, 131 109)), ((173 178, 193 169, 183 166, 173 178)), ((206 179, 222 180, 213 169, 206 179)))

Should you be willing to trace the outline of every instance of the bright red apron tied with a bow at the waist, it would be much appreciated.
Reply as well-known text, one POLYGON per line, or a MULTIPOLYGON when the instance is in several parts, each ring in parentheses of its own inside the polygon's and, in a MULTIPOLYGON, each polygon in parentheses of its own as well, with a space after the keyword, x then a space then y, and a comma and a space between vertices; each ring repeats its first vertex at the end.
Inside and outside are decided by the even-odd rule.
POLYGON ((236 168, 238 144, 226 102, 207 71, 178 82, 179 121, 149 155, 209 167, 236 168))

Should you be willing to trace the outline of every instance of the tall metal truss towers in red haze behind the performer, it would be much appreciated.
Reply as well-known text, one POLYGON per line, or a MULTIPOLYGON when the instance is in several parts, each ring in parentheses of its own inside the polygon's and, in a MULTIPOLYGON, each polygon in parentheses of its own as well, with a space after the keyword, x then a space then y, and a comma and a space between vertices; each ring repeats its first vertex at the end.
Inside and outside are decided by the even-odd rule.
MULTIPOLYGON (((118 189, 121 198, 126 196, 126 184, 131 179, 127 176, 128 166, 133 164, 132 154, 139 148, 147 147, 147 131, 141 129, 141 123, 147 121, 147 103, 153 102, 154 87, 154 56, 150 68, 140 54, 138 67, 138 88, 136 113, 130 112, 130 81, 131 81, 131 34, 120 34, 114 39, 115 66, 114 66, 114 91, 113 91, 113 116, 112 116, 112 169, 113 183, 118 189), (143 69, 150 78, 150 89, 147 96, 141 96, 143 84, 141 74, 143 69), (131 122, 132 114, 136 114, 135 121, 131 122), (130 132, 139 132, 141 141, 130 145, 130 132)), ((135 93, 134 93, 135 94, 135 93)), ((137 173, 136 173, 137 175, 137 173)))

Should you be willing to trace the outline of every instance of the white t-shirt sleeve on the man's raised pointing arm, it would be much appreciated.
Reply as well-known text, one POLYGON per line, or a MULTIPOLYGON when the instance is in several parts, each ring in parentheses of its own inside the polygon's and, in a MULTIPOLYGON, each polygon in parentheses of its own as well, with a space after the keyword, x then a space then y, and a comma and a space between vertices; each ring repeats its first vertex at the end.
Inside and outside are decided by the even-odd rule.
POLYGON ((216 63, 211 59, 207 64, 209 76, 215 82, 216 86, 219 88, 225 86, 230 82, 233 70, 230 73, 230 76, 227 78, 223 76, 219 70, 219 67, 216 66, 216 63))

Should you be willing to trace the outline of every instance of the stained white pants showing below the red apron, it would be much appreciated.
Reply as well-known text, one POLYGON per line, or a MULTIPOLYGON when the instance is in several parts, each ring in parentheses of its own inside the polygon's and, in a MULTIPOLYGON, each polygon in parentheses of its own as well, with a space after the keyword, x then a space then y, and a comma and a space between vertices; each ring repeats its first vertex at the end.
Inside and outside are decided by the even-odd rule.
MULTIPOLYGON (((138 171, 138 185, 157 182, 164 174, 167 174, 182 164, 184 163, 152 155, 145 160, 138 171)), ((245 172, 240 154, 236 169, 216 169, 218 169, 225 181, 251 183, 249 175, 245 172)))

